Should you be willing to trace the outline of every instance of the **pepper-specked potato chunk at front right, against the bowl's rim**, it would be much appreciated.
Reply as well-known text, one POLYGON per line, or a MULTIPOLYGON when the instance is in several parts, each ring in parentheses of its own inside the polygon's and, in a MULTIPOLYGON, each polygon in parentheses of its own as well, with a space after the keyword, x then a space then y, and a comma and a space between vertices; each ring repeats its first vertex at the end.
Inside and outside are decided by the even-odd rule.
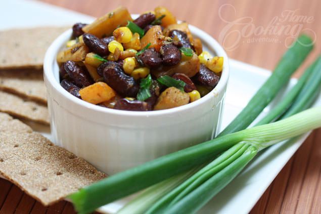
POLYGON ((159 95, 154 110, 162 110, 182 106, 190 102, 190 95, 175 87, 167 88, 159 95))

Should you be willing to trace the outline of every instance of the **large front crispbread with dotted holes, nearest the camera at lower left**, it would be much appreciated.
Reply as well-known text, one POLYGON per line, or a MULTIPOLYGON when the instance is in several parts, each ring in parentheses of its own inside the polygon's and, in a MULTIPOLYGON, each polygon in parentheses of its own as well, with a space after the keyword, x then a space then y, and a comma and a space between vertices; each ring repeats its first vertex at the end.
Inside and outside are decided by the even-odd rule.
POLYGON ((5 113, 0 118, 0 173, 43 205, 106 177, 23 122, 5 113))

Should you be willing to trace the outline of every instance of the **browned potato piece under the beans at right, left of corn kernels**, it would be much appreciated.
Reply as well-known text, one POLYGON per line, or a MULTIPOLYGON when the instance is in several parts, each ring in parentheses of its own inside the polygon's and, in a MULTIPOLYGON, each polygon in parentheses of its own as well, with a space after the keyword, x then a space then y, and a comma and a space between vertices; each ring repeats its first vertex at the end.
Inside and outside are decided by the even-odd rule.
POLYGON ((153 70, 152 73, 158 78, 164 75, 171 76, 174 73, 184 73, 188 77, 194 76, 200 70, 200 60, 198 56, 193 53, 192 57, 185 57, 182 54, 181 60, 178 64, 174 66, 163 66, 156 70, 153 70))

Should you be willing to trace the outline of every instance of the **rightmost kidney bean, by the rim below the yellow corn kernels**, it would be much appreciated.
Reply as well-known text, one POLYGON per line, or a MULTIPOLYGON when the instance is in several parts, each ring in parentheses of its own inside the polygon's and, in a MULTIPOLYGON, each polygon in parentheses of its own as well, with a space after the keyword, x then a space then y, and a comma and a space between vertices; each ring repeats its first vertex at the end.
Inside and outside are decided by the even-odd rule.
POLYGON ((208 69, 204 64, 201 64, 200 71, 195 74, 192 79, 194 82, 201 85, 215 87, 219 80, 219 76, 215 72, 208 69))

